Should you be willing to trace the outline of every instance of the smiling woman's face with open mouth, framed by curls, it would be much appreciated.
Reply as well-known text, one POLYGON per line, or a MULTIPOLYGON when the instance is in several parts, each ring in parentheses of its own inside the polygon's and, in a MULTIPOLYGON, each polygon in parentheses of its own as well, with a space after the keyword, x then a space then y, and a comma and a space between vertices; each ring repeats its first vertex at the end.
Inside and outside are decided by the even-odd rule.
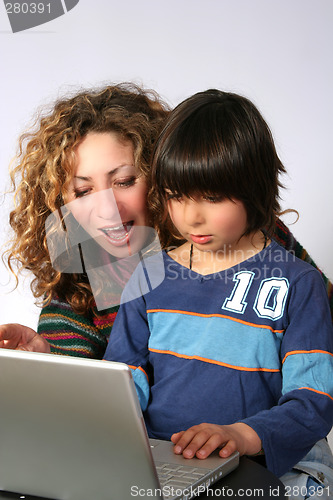
POLYGON ((146 181, 133 145, 115 133, 89 133, 76 150, 67 207, 91 237, 117 258, 144 246, 146 181))

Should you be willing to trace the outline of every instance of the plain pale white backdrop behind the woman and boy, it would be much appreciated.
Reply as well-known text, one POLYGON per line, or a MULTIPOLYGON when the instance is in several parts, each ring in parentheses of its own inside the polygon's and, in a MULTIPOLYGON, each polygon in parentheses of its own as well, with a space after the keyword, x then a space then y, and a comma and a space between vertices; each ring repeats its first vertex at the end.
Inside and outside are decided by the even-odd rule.
MULTIPOLYGON (((0 3, 1 189, 36 110, 78 88, 134 80, 171 105, 218 87, 246 95, 270 124, 289 175, 292 231, 333 278, 332 0, 80 0, 37 28, 10 30, 0 3)), ((1 197, 1 243, 11 198, 1 197)), ((28 283, 0 267, 0 323, 36 327, 28 283)))

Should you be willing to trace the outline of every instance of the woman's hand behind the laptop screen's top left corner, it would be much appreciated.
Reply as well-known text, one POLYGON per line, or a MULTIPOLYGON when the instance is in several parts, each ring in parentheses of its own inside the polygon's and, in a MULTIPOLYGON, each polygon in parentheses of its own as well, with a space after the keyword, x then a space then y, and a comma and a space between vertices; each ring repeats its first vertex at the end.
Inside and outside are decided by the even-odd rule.
POLYGON ((0 325, 0 348, 50 353, 49 343, 28 326, 17 323, 0 325))

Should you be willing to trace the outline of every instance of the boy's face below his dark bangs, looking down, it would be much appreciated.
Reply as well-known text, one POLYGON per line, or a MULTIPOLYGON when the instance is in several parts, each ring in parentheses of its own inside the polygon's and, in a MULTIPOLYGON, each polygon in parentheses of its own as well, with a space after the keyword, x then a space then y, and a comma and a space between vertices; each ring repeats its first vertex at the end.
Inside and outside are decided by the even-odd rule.
POLYGON ((239 200, 167 197, 173 224, 199 250, 232 250, 246 231, 247 214, 239 200))

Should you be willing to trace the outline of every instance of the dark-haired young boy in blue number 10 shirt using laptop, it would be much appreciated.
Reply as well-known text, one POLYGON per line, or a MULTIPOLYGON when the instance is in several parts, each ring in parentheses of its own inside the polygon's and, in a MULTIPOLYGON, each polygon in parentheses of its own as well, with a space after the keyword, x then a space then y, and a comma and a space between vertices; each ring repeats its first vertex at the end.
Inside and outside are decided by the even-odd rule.
POLYGON ((132 367, 148 433, 175 453, 264 453, 282 476, 312 450, 333 481, 316 445, 332 426, 332 321, 320 274, 272 240, 284 171, 247 99, 212 90, 171 113, 150 202, 162 245, 185 243, 153 291, 133 275, 105 359, 132 367))

